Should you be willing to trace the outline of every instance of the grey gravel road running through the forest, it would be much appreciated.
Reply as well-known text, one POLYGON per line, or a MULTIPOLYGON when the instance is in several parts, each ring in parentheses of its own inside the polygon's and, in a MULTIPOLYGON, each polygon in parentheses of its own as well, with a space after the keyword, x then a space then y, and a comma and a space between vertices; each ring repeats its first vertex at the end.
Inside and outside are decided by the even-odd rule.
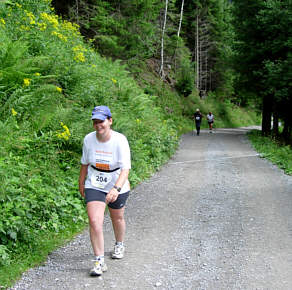
MULTIPOLYGON (((248 128, 182 136, 127 203, 126 255, 88 276, 88 230, 11 289, 292 289, 292 177, 251 148, 248 128)), ((77 178, 77 177, 76 177, 77 178)))

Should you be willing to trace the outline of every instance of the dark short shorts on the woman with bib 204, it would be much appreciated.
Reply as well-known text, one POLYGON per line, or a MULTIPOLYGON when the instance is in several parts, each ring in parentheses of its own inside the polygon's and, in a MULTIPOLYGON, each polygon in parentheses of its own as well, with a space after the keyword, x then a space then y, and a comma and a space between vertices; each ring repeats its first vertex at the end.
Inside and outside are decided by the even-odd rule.
MULTIPOLYGON (((108 207, 113 208, 113 209, 120 209, 124 207, 129 197, 129 193, 130 191, 119 194, 117 200, 114 202, 110 202, 108 204, 108 207)), ((102 201, 105 203, 106 195, 107 195, 106 192, 92 189, 92 188, 85 188, 85 202, 86 203, 90 201, 102 201)))

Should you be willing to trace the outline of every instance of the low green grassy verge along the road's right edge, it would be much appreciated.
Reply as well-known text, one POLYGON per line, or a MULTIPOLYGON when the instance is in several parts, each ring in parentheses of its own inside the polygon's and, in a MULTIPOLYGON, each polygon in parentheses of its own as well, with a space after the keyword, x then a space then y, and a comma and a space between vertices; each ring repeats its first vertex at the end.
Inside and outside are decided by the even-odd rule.
POLYGON ((254 148, 274 164, 278 165, 286 174, 292 175, 292 148, 282 145, 271 137, 264 137, 259 131, 248 134, 254 148))

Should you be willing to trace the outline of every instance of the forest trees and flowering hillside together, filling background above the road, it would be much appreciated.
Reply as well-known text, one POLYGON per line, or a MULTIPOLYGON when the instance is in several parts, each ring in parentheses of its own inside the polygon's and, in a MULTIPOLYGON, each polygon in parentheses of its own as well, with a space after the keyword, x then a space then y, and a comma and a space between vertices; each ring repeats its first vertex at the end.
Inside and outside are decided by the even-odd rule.
POLYGON ((1 0, 0 285, 84 228, 77 179, 96 105, 129 140, 133 187, 196 108, 217 127, 261 116, 292 168, 289 2, 1 0))

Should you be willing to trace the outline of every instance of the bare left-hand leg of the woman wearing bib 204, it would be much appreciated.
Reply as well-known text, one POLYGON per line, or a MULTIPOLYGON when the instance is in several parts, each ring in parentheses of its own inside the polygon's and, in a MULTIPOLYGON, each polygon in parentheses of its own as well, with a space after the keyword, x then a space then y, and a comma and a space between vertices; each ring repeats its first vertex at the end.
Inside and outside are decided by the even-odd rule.
POLYGON ((103 221, 106 204, 101 201, 87 203, 89 233, 95 256, 104 255, 103 221))

